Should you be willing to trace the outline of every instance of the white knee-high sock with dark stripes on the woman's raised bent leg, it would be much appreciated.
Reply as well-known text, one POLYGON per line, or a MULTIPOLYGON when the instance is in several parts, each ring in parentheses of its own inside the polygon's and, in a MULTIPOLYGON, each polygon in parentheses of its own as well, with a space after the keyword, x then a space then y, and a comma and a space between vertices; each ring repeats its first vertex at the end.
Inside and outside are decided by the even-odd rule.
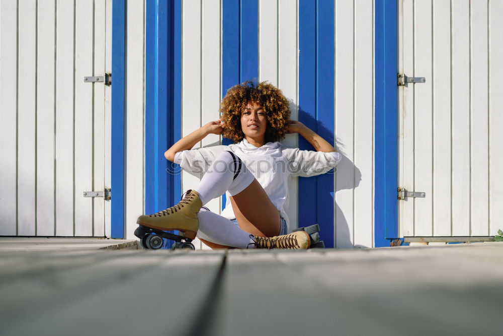
POLYGON ((246 169, 239 157, 225 151, 215 158, 199 182, 196 191, 204 206, 211 199, 221 196, 227 190, 232 196, 240 193, 254 179, 255 176, 246 169))

